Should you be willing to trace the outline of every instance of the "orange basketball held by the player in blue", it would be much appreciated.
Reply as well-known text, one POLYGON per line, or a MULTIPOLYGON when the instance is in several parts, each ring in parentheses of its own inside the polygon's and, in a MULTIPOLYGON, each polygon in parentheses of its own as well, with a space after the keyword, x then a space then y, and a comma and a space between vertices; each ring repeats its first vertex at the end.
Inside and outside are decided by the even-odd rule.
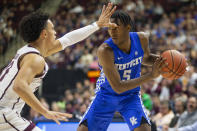
POLYGON ((164 78, 174 80, 178 79, 185 73, 187 62, 185 56, 179 51, 167 50, 164 51, 161 56, 166 58, 166 63, 168 63, 168 66, 162 68, 163 71, 167 72, 162 74, 164 78))

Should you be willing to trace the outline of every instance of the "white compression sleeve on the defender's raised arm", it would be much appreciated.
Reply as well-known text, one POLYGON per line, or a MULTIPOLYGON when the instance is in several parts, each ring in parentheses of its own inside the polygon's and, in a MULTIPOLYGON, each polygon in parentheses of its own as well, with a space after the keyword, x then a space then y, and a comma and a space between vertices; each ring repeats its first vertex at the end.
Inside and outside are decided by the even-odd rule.
POLYGON ((95 31, 99 30, 98 25, 96 22, 94 22, 91 25, 87 25, 85 27, 82 27, 80 29, 71 31, 58 40, 60 41, 62 45, 62 49, 65 49, 67 46, 73 45, 79 41, 84 40, 89 35, 93 34, 95 31))

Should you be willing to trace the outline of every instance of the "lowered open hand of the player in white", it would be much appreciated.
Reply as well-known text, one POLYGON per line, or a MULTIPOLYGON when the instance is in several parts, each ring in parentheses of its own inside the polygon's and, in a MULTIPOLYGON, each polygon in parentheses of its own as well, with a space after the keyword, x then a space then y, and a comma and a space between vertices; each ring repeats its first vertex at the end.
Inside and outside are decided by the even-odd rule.
POLYGON ((60 125, 59 120, 68 121, 67 118, 71 118, 72 114, 68 113, 61 113, 56 111, 48 111, 47 113, 43 114, 47 119, 54 120, 58 125, 60 125))

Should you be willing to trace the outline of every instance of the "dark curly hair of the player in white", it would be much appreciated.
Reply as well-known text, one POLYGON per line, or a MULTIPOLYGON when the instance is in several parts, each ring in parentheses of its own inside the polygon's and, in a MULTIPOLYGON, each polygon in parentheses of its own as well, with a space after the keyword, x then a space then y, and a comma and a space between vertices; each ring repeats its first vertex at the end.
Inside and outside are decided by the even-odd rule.
POLYGON ((41 31, 46 27, 49 14, 37 10, 24 16, 19 24, 20 35, 25 42, 34 42, 40 36, 41 31))

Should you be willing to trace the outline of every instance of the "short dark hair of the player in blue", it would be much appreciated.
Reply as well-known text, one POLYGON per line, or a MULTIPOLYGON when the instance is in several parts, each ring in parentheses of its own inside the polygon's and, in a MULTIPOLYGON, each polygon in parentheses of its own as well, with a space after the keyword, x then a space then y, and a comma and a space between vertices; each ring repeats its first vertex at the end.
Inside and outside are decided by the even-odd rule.
POLYGON ((111 18, 114 18, 115 21, 117 21, 119 19, 123 25, 125 25, 125 26, 130 25, 131 30, 135 31, 134 21, 131 19, 131 17, 129 16, 128 13, 126 13, 122 10, 117 10, 112 14, 111 18))

